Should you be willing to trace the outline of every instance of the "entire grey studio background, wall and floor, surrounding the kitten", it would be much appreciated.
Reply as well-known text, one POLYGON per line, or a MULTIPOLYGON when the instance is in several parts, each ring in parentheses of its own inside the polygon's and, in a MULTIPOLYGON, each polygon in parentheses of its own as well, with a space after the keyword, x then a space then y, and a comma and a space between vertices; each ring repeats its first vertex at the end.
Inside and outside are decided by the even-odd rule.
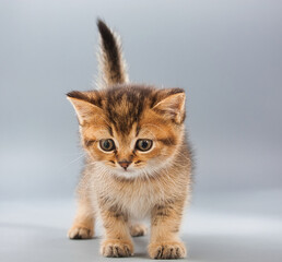
POLYGON ((93 86, 99 16, 132 82, 187 91, 190 260, 281 261, 281 12, 275 0, 1 0, 0 259, 97 260, 97 240, 64 238, 82 166, 64 94, 93 86))

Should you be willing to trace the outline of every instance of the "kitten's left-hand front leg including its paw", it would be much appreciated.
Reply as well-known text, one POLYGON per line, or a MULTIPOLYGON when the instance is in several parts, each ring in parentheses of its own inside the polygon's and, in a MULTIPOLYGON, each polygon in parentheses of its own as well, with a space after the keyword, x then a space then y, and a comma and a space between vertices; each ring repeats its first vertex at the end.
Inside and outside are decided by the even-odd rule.
POLYGON ((133 254, 133 243, 128 228, 128 218, 122 213, 111 210, 101 211, 105 227, 105 239, 101 243, 104 257, 120 258, 133 254))

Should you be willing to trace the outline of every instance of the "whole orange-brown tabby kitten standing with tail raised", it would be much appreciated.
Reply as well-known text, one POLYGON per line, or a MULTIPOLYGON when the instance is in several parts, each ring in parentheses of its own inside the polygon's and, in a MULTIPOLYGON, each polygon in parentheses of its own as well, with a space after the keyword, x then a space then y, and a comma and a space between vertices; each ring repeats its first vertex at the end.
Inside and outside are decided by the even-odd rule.
POLYGON ((150 216, 149 255, 184 258, 178 231, 191 183, 184 90, 128 83, 117 35, 102 21, 97 26, 99 90, 68 94, 87 155, 69 238, 92 238, 99 215, 101 253, 129 257, 131 236, 146 233, 136 221, 150 216))

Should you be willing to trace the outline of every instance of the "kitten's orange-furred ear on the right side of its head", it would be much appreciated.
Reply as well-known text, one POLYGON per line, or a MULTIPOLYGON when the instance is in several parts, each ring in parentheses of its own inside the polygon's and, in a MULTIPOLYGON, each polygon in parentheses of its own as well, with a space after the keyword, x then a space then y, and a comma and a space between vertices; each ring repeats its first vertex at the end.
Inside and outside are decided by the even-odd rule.
POLYGON ((176 123, 183 123, 185 120, 185 93, 168 94, 153 107, 153 110, 176 123))

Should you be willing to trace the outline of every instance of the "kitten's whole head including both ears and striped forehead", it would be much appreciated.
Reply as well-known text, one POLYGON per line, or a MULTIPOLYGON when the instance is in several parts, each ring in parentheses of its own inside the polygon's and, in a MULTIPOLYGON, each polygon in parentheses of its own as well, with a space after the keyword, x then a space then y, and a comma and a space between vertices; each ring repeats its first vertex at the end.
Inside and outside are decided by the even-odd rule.
POLYGON ((124 178, 150 176, 175 156, 184 136, 180 88, 122 85, 68 94, 93 162, 124 178))

